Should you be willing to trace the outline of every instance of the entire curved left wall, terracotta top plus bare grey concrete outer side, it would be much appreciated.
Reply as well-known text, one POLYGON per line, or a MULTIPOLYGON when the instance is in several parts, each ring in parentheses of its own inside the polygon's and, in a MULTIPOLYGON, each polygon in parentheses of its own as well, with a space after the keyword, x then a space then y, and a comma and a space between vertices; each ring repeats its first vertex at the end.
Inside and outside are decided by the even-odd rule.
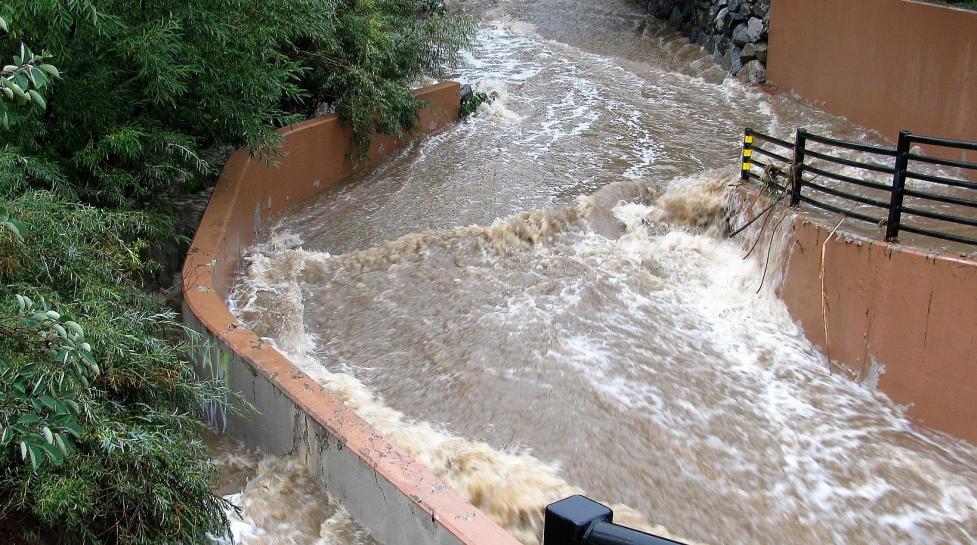
MULTIPOLYGON (((421 133, 458 118, 459 86, 422 89, 421 133)), ((226 432, 274 454, 301 456, 319 482, 386 545, 518 545, 518 542, 360 419, 288 359, 241 327, 225 302, 242 252, 259 227, 357 169, 350 131, 335 116, 282 132, 284 157, 270 166, 235 152, 224 168, 183 268, 186 323, 211 341, 201 369, 227 380, 260 409, 228 416, 226 432)), ((375 139, 376 164, 401 142, 375 139)))

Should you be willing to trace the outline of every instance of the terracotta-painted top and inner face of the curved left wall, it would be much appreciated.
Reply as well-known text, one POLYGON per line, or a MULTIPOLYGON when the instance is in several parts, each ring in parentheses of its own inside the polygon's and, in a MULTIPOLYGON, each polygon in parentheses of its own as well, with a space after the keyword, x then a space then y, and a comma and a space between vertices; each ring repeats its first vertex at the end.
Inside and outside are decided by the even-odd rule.
MULTIPOLYGON (((460 86, 446 82, 417 96, 427 102, 418 133, 444 128, 458 119, 460 86)), ((396 445, 318 385, 253 331, 242 327, 225 301, 242 252, 263 220, 308 198, 353 172, 369 167, 403 142, 377 137, 369 159, 348 161, 350 132, 335 115, 280 131, 283 158, 272 166, 238 150, 228 160, 194 236, 183 267, 184 307, 224 347, 267 377, 296 406, 355 452, 363 464, 409 498, 458 541, 471 545, 518 542, 456 491, 443 485, 396 445)))

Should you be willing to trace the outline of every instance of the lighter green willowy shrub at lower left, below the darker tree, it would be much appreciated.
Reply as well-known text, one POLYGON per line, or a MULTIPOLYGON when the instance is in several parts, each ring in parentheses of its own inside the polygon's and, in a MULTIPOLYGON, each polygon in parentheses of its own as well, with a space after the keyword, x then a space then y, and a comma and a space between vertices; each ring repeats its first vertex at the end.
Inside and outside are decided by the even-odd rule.
POLYGON ((198 437, 202 407, 230 394, 196 381, 195 339, 140 289, 165 224, 44 191, 8 209, 30 232, 0 236, 0 521, 64 543, 223 533, 198 437))

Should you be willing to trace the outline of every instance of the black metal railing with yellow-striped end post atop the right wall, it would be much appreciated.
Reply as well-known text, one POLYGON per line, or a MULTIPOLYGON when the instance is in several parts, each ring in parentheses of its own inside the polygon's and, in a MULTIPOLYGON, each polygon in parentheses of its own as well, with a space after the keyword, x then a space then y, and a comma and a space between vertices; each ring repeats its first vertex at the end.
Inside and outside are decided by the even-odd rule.
POLYGON ((904 216, 914 216, 953 225, 977 227, 977 212, 970 217, 965 217, 935 210, 925 210, 917 204, 918 201, 929 201, 977 210, 977 182, 919 172, 914 167, 915 163, 923 163, 977 171, 977 163, 941 159, 915 153, 912 149, 917 144, 977 151, 977 142, 920 136, 908 131, 899 133, 896 147, 889 148, 828 138, 809 133, 804 129, 797 130, 794 142, 774 138, 753 129, 746 129, 743 138, 742 177, 743 179, 762 180, 778 187, 784 192, 784 196, 789 193, 791 206, 806 203, 829 212, 844 214, 853 219, 884 227, 885 239, 889 241, 897 240, 900 232, 907 232, 962 244, 977 245, 977 238, 938 230, 938 228, 926 228, 905 221, 904 216), (820 145, 822 149, 812 149, 811 143, 820 145), (766 147, 761 147, 764 145, 766 147), (868 156, 868 159, 858 160, 840 157, 836 150, 859 152, 868 156), (762 159, 758 159, 758 156, 762 159), (829 170, 828 166, 823 166, 821 163, 812 164, 812 160, 859 169, 876 175, 891 176, 891 181, 882 183, 878 180, 841 174, 829 170), (754 166, 763 169, 767 175, 764 176, 755 172, 754 166), (783 174, 786 183, 784 185, 778 184, 777 177, 770 176, 771 172, 783 174), (818 183, 819 178, 841 183, 833 184, 832 187, 825 183, 818 183), (906 180, 908 179, 953 188, 958 194, 940 194, 906 187, 906 180), (853 193, 851 190, 843 189, 847 187, 845 184, 868 191, 853 193), (808 191, 804 191, 805 189, 808 191), (970 196, 970 191, 973 192, 973 196, 970 196), (873 192, 881 192, 882 195, 873 195, 873 192), (830 202, 825 202, 823 198, 818 198, 819 194, 831 195, 846 201, 879 208, 885 212, 884 215, 873 217, 867 212, 845 210, 830 202), (907 203, 907 198, 913 200, 907 203))

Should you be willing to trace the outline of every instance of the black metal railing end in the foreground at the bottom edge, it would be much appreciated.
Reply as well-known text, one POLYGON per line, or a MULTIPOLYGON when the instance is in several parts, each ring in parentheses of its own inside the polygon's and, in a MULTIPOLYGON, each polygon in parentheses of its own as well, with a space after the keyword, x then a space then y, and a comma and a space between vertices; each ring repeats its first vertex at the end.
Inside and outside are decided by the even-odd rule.
POLYGON ((609 507, 584 496, 570 496, 546 507, 543 545, 684 545, 613 520, 609 507))

